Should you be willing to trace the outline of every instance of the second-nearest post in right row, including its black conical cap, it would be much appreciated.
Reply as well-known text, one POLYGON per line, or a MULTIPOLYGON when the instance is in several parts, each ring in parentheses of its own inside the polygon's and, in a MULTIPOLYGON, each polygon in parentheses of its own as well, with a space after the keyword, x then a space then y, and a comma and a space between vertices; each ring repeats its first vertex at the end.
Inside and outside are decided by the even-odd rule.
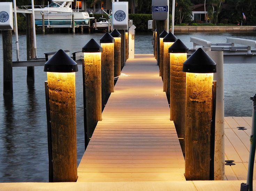
POLYGON ((183 62, 187 60, 188 48, 181 40, 170 47, 170 120, 174 122, 180 146, 185 154, 186 120, 186 73, 181 72, 183 62))

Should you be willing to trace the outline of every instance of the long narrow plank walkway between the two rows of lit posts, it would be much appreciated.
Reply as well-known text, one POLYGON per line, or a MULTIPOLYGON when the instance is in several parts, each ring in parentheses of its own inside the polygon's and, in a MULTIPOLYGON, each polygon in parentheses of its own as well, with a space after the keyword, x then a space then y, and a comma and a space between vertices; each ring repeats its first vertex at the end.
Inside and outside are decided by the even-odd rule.
POLYGON ((185 161, 152 54, 127 60, 82 161, 78 182, 185 180, 185 161))

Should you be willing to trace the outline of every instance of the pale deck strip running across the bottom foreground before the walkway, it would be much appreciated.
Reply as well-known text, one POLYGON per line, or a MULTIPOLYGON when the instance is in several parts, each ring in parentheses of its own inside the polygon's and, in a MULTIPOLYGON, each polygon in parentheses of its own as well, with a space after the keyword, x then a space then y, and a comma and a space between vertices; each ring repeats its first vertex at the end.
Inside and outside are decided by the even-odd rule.
MULTIPOLYGON (((240 190, 241 181, 169 181, 169 182, 19 182, 0 183, 1 191, 234 191, 240 190)), ((253 182, 256 189, 256 181, 253 182)))

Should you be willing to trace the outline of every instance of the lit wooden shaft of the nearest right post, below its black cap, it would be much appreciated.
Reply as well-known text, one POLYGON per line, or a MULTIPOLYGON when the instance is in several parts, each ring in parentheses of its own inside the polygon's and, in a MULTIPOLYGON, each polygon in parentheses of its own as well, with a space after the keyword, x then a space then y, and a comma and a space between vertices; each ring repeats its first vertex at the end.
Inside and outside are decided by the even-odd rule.
POLYGON ((206 169, 210 169, 212 81, 213 73, 186 73, 185 144, 192 144, 185 147, 186 180, 210 179, 206 169))

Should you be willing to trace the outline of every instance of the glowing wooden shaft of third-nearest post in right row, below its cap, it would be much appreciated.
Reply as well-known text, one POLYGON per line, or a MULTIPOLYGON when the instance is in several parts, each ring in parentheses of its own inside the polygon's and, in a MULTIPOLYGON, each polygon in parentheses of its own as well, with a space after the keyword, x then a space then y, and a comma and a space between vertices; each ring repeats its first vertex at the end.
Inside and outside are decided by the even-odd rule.
MULTIPOLYGON (((169 47, 173 44, 174 42, 164 42, 164 55, 163 55, 163 89, 164 92, 169 92, 170 90, 170 53, 168 52, 169 47), (166 76, 168 75, 168 76, 166 76)), ((168 98, 169 99, 169 98, 168 98)))

